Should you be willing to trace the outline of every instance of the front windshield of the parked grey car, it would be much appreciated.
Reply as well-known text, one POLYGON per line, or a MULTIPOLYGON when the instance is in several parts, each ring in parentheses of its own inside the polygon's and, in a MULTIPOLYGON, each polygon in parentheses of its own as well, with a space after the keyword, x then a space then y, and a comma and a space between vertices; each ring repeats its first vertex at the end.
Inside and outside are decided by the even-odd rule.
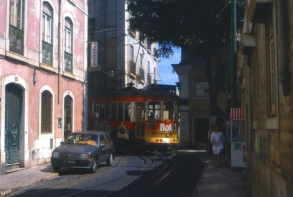
POLYGON ((85 144, 85 145, 98 145, 99 136, 95 134, 87 133, 71 133, 71 135, 65 140, 64 144, 85 144))

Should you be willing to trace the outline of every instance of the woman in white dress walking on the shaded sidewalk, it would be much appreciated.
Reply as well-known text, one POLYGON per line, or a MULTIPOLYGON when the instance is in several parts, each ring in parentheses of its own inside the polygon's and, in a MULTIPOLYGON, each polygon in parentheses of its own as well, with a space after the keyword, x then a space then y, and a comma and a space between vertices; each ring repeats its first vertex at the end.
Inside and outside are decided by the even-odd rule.
POLYGON ((215 129, 215 132, 212 133, 211 135, 211 141, 213 145, 215 160, 217 163, 216 166, 220 167, 220 159, 221 159, 220 153, 224 149, 224 142, 226 140, 225 140, 224 134, 219 131, 219 126, 216 125, 214 129, 215 129))

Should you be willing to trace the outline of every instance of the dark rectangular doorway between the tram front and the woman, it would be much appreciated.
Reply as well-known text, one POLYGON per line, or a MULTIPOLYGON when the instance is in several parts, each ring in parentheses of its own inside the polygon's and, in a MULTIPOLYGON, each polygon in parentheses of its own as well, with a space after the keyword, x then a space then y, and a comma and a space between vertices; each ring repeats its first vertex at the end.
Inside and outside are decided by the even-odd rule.
POLYGON ((209 131, 208 118, 194 119, 194 142, 207 142, 208 131, 209 131))

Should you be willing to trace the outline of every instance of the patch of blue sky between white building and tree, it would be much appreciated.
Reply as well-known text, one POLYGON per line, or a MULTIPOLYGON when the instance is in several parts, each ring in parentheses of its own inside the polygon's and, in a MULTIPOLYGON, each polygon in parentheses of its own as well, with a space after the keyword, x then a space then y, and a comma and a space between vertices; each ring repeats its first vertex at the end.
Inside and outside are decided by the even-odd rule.
POLYGON ((176 73, 172 73, 173 67, 171 64, 178 64, 181 60, 181 49, 173 48, 174 55, 169 59, 159 57, 159 84, 171 84, 176 85, 175 82, 178 82, 178 75, 176 73), (161 78, 160 78, 161 77, 161 78))

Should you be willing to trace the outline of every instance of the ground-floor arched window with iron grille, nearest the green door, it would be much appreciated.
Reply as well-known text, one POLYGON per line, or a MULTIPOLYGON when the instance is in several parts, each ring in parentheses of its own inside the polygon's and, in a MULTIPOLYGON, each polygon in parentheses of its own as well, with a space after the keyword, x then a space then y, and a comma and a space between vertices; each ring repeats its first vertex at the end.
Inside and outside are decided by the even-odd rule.
POLYGON ((52 133, 53 96, 50 91, 42 92, 41 133, 52 133))

